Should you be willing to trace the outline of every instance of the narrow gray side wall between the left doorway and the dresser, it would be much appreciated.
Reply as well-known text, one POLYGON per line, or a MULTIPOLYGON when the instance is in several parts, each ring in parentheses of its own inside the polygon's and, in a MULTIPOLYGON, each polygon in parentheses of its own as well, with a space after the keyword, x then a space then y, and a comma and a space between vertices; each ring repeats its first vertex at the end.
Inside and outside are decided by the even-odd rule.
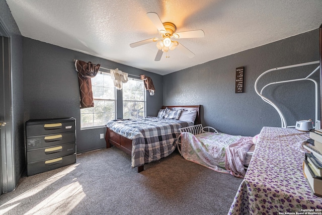
POLYGON ((13 149, 15 184, 18 184, 25 168, 22 36, 5 0, 0 0, 0 22, 11 40, 13 149))

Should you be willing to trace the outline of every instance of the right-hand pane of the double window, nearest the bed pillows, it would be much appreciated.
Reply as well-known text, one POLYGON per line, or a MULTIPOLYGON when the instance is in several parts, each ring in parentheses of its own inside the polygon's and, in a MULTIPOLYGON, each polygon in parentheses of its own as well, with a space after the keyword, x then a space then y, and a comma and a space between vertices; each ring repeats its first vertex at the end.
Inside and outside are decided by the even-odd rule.
POLYGON ((142 80, 129 79, 123 84, 123 118, 137 119, 145 116, 145 88, 142 80))

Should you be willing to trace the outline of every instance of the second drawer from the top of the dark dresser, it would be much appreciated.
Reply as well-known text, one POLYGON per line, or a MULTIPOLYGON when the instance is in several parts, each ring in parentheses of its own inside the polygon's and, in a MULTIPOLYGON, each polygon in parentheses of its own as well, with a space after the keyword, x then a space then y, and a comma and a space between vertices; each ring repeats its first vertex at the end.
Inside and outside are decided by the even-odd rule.
POLYGON ((55 145, 67 144, 75 142, 75 131, 67 133, 55 133, 39 136, 31 136, 26 138, 27 150, 50 147, 55 145))

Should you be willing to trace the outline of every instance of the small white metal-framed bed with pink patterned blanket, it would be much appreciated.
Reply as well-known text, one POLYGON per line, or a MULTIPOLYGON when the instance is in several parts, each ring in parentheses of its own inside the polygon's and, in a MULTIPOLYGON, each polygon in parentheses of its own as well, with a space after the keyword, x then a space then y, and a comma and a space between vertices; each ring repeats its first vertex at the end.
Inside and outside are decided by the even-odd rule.
POLYGON ((211 127, 193 125, 180 129, 178 149, 188 161, 217 172, 244 178, 255 150, 256 136, 218 133, 211 127))

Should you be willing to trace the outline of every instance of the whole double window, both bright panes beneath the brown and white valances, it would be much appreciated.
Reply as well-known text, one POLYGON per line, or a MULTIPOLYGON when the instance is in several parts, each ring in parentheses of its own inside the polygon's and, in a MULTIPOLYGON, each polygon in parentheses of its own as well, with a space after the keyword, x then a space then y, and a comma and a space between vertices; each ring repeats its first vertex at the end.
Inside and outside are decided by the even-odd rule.
POLYGON ((122 118, 145 117, 146 91, 142 80, 130 78, 123 83, 122 90, 116 90, 110 74, 98 73, 92 78, 92 90, 94 107, 81 109, 81 128, 105 126, 109 120, 116 119, 116 95, 119 92, 123 95, 122 118))

